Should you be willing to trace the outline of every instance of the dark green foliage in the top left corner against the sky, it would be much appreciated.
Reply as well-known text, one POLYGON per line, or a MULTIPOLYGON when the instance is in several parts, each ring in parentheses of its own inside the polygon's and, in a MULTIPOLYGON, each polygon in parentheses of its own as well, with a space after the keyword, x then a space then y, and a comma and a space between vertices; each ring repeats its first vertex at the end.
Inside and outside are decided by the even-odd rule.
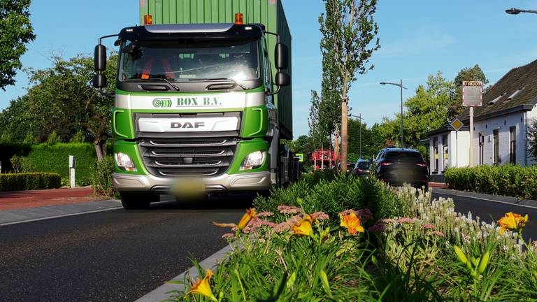
POLYGON ((34 41, 30 23, 30 0, 0 0, 0 88, 15 84, 20 57, 27 43, 34 41))

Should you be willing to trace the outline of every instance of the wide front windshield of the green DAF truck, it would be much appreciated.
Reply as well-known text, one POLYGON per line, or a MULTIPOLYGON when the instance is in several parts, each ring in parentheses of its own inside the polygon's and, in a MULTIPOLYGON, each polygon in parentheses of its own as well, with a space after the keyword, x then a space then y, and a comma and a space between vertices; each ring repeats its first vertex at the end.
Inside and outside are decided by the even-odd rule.
POLYGON ((124 41, 120 81, 166 78, 173 82, 259 79, 255 41, 124 41))

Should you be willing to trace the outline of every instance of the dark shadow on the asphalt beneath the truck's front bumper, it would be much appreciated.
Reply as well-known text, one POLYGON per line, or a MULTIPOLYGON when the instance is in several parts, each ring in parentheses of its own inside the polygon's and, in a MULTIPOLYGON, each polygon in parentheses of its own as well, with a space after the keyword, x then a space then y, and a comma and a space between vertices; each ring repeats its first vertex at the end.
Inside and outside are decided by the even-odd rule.
POLYGON ((245 209, 252 207, 254 194, 233 194, 209 196, 206 199, 181 199, 163 195, 159 203, 152 203, 151 210, 219 210, 245 209))

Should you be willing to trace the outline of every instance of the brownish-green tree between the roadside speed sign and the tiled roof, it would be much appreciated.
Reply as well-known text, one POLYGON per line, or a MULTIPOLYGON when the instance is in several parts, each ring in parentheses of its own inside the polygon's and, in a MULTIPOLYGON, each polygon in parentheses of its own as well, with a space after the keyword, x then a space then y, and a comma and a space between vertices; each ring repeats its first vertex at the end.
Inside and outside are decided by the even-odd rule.
POLYGON ((473 67, 461 69, 453 80, 451 99, 447 110, 447 118, 449 120, 452 120, 464 110, 464 106, 462 106, 462 82, 470 80, 481 81, 484 85, 489 83, 485 73, 478 64, 475 64, 473 67))

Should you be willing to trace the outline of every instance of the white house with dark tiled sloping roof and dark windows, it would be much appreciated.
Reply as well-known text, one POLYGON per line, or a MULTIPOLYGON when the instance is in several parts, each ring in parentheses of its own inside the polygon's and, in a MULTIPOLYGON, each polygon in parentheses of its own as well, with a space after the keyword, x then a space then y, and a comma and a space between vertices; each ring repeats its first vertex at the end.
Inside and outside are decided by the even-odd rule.
POLYGON ((478 164, 536 164, 527 154, 528 128, 537 119, 537 60, 511 69, 483 94, 474 109, 473 139, 468 128, 468 108, 459 115, 460 131, 446 125, 429 132, 431 179, 443 178, 449 167, 468 166, 470 142, 478 164))

